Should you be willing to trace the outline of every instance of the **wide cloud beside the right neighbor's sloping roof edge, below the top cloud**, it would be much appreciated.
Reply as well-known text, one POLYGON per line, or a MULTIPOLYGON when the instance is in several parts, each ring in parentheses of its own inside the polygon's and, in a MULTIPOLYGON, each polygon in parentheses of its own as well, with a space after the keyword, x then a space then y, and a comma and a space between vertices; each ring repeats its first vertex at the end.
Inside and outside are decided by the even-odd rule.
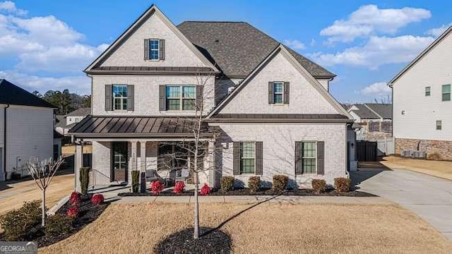
POLYGON ((376 69, 387 63, 411 61, 433 40, 433 37, 415 37, 412 35, 398 37, 371 36, 367 44, 362 47, 350 47, 335 54, 318 52, 309 56, 323 66, 344 64, 376 69))

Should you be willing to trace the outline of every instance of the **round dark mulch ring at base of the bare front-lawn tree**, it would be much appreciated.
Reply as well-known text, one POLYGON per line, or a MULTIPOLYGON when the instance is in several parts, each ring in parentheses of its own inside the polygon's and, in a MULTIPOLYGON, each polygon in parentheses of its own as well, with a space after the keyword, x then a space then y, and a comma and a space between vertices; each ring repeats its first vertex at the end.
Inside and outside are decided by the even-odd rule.
POLYGON ((202 227, 200 237, 193 238, 193 228, 184 229, 154 247, 154 253, 231 253, 231 238, 218 229, 202 227))

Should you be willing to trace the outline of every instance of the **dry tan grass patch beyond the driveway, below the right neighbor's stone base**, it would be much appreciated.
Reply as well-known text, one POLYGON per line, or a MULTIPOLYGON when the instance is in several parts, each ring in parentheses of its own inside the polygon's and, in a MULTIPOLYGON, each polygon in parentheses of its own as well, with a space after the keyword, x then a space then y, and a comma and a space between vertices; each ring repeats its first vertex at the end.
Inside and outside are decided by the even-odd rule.
POLYGON ((390 169, 406 169, 452 180, 452 162, 390 156, 380 163, 390 169))

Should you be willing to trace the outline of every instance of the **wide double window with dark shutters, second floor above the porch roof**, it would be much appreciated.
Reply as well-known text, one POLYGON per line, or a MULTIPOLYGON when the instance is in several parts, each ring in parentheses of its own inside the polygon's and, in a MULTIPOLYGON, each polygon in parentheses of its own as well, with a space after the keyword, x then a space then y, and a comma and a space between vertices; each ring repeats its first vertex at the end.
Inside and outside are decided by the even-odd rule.
POLYGON ((167 110, 196 110, 196 85, 167 85, 167 110))

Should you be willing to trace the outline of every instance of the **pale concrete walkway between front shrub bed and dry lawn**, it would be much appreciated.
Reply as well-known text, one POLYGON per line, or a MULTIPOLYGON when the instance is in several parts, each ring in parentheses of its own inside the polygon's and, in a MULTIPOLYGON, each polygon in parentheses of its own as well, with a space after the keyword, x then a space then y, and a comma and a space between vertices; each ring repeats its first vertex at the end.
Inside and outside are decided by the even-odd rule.
MULTIPOLYGON (((316 203, 336 203, 336 204, 393 204, 390 200, 381 197, 326 197, 326 196, 240 196, 240 195, 210 195, 200 196, 199 202, 240 202, 253 204, 256 202, 268 201, 280 204, 316 204, 316 203)), ((174 202, 190 203, 194 202, 193 196, 141 196, 141 197, 121 197, 116 203, 137 203, 137 202, 174 202)))

